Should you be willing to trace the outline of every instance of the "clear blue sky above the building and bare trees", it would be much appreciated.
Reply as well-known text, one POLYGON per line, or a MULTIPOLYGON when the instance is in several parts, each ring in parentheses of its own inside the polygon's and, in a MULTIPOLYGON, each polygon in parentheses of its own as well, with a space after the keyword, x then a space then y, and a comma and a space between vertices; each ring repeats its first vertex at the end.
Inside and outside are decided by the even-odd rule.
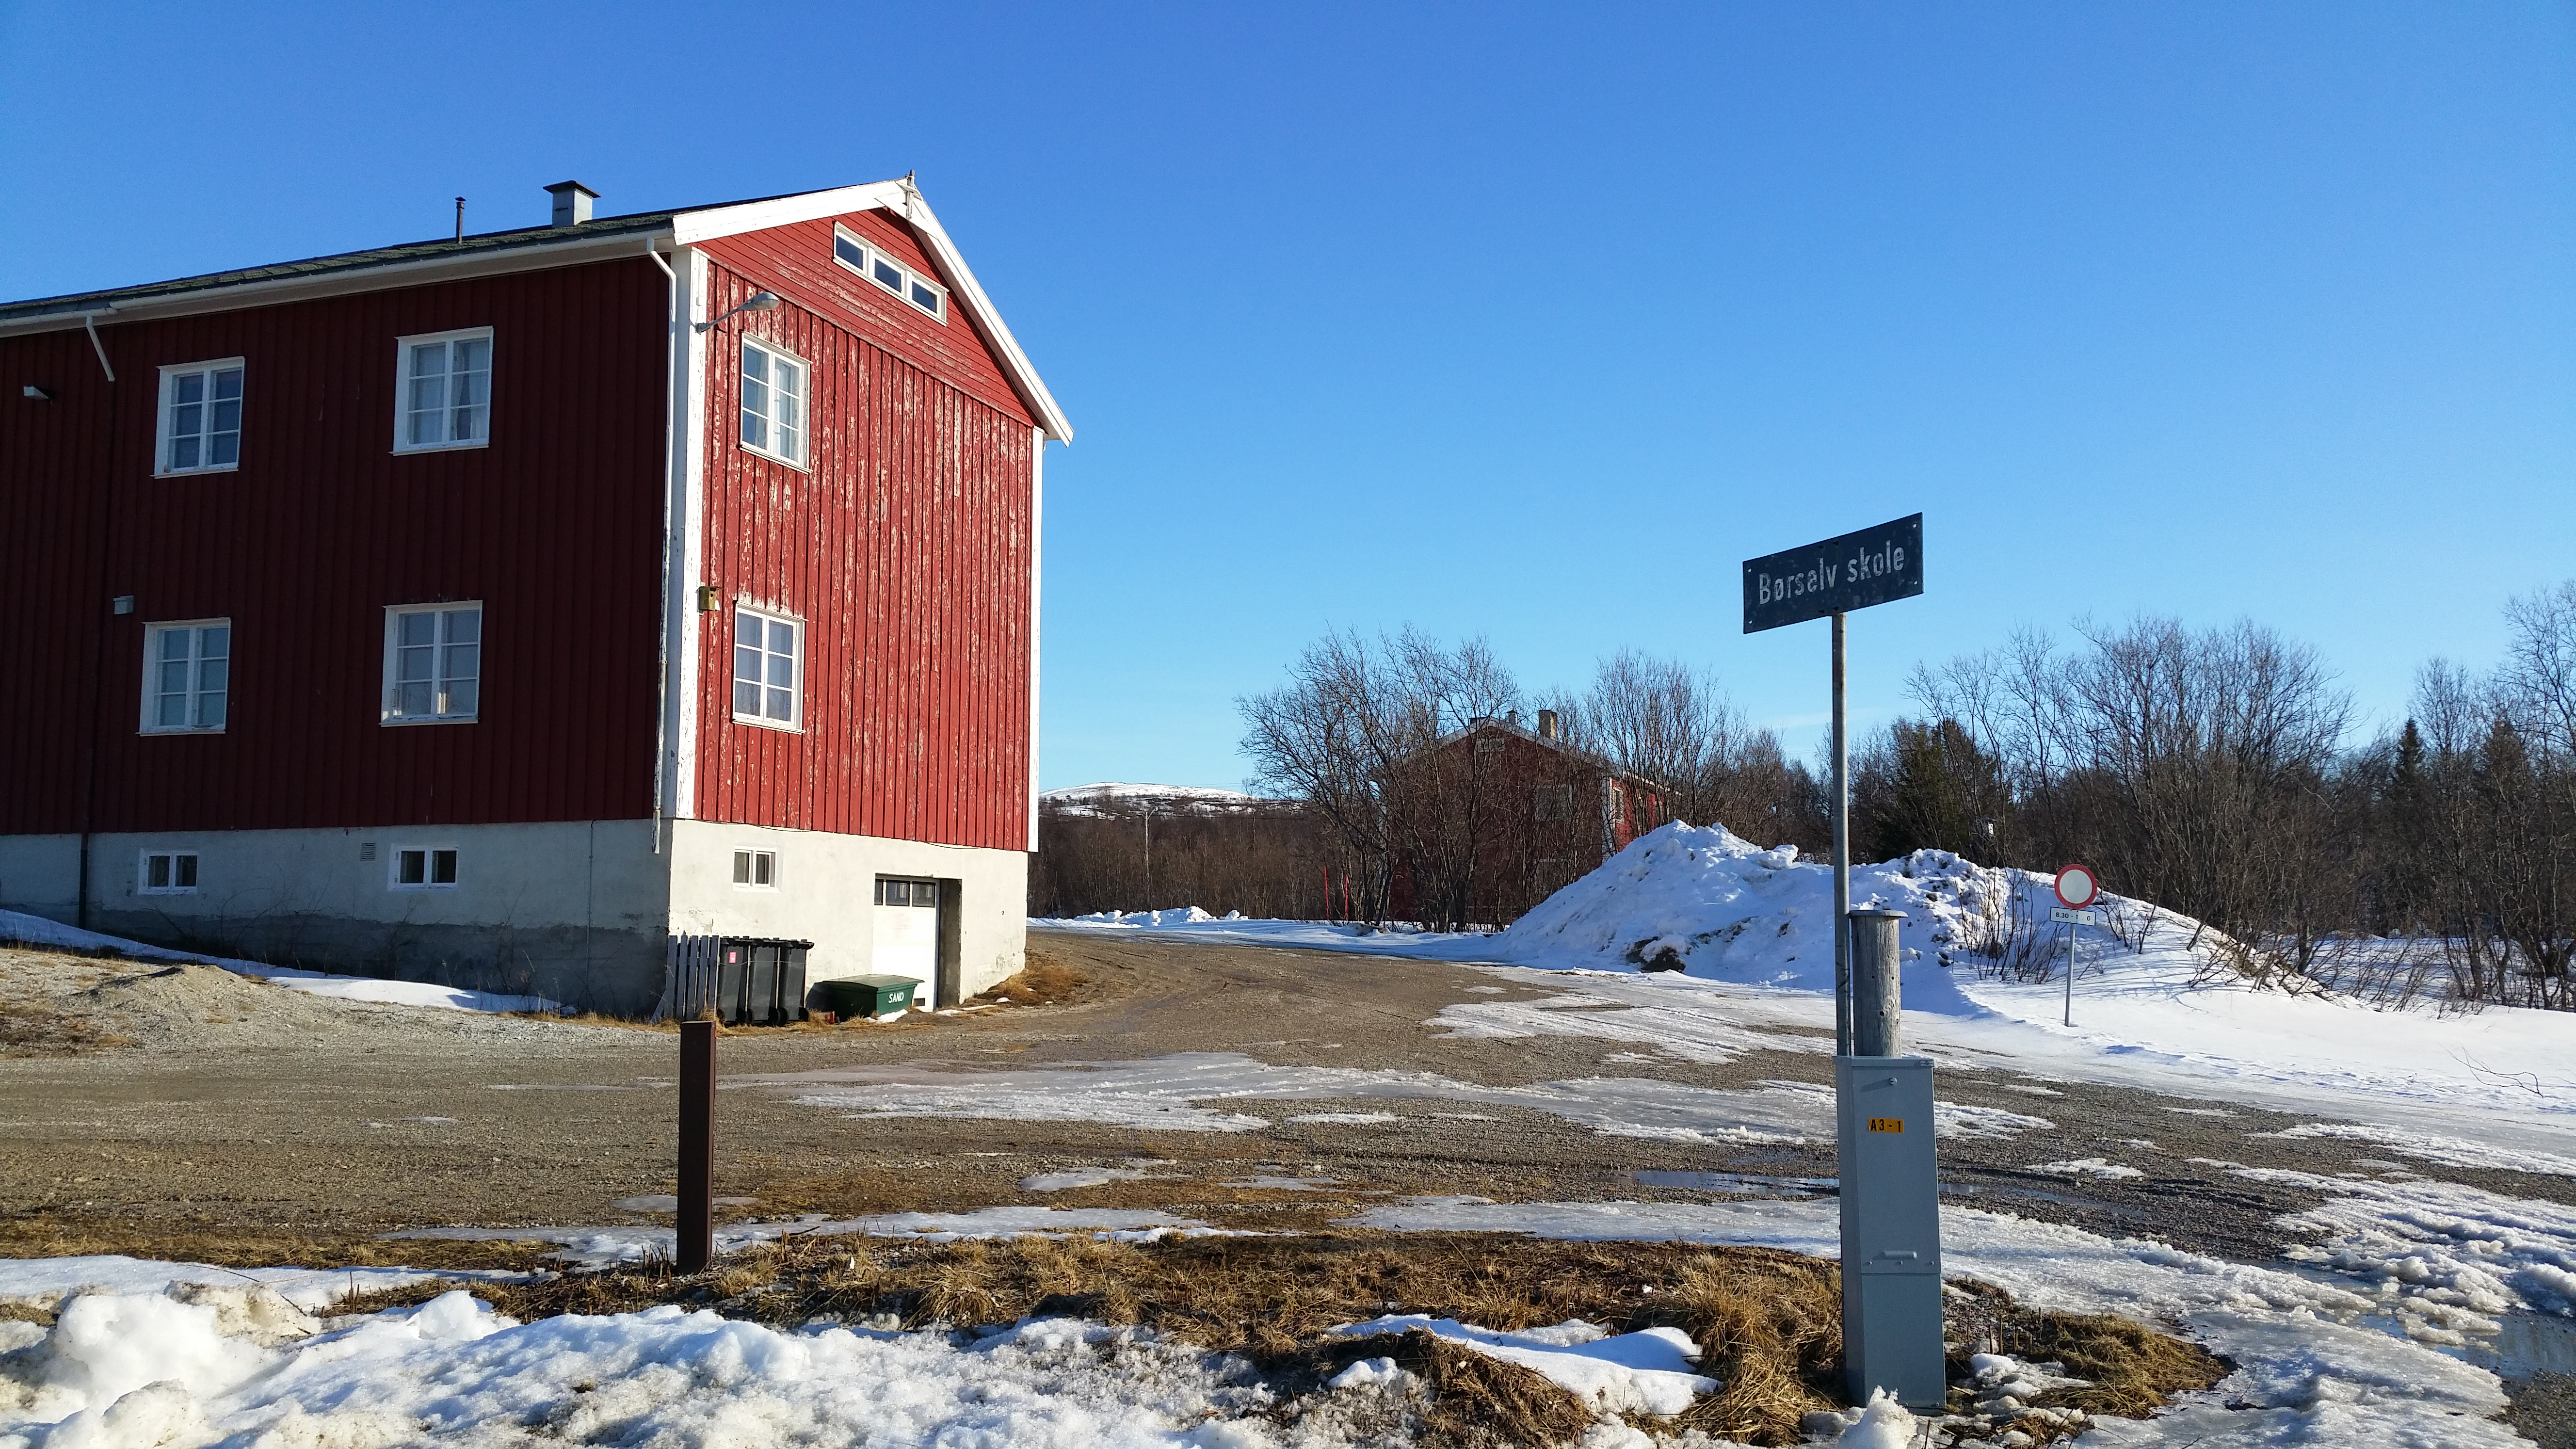
POLYGON ((1924 511, 1855 717, 2254 616, 2372 722, 2576 575, 2576 8, 0 0, 0 294, 920 173, 1074 418, 1043 781, 1239 784, 1327 627, 1633 645, 1924 511))

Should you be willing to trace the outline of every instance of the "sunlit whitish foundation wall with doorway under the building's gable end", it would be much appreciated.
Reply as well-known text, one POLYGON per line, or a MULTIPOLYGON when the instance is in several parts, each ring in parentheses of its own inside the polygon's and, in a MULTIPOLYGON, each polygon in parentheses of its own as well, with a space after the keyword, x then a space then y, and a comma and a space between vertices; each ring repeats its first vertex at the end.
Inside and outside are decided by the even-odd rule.
POLYGON ((943 910, 953 913, 953 933, 943 949, 953 954, 945 964, 958 995, 1018 975, 1028 949, 1023 851, 675 820, 670 859, 672 931, 814 941, 809 982, 876 975, 876 877, 948 882, 943 910), (775 853, 778 884, 737 887, 734 851, 775 853))

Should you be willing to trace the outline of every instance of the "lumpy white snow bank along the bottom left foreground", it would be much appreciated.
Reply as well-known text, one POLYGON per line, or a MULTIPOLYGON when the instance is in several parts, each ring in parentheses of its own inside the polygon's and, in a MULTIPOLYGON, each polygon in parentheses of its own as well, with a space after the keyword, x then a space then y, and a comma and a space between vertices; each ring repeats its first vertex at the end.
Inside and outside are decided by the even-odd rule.
POLYGON ((477 1426, 567 1444, 1260 1446, 1270 1392, 1139 1328, 984 1338, 781 1333, 654 1307, 515 1325, 464 1292, 263 1348, 157 1294, 64 1305, 0 1356, 0 1449, 412 1444, 477 1426))

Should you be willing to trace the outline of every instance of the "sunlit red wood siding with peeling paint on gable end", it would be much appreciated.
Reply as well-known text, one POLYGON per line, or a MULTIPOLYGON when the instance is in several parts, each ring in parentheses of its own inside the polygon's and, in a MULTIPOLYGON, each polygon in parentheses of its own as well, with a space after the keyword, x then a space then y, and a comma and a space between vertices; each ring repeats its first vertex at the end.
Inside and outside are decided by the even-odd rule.
POLYGON ((786 307, 708 335, 703 578, 726 611, 701 616, 696 812, 1028 848, 1030 413, 961 312, 835 266, 829 222, 706 253, 711 315, 786 307), (811 472, 739 446, 742 335, 811 366, 811 472), (801 732, 732 719, 734 598, 806 621, 801 732))

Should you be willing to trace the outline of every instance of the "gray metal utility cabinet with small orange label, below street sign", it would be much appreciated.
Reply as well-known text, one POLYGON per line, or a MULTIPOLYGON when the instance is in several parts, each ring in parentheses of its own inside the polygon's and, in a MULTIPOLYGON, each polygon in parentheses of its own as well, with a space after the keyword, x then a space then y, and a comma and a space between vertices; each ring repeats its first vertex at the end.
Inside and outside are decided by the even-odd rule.
POLYGON ((1852 1403, 1888 1390, 1909 1408, 1947 1397, 1940 1323, 1940 1163, 1932 1062, 1834 1057, 1842 1158, 1842 1356, 1852 1403))

